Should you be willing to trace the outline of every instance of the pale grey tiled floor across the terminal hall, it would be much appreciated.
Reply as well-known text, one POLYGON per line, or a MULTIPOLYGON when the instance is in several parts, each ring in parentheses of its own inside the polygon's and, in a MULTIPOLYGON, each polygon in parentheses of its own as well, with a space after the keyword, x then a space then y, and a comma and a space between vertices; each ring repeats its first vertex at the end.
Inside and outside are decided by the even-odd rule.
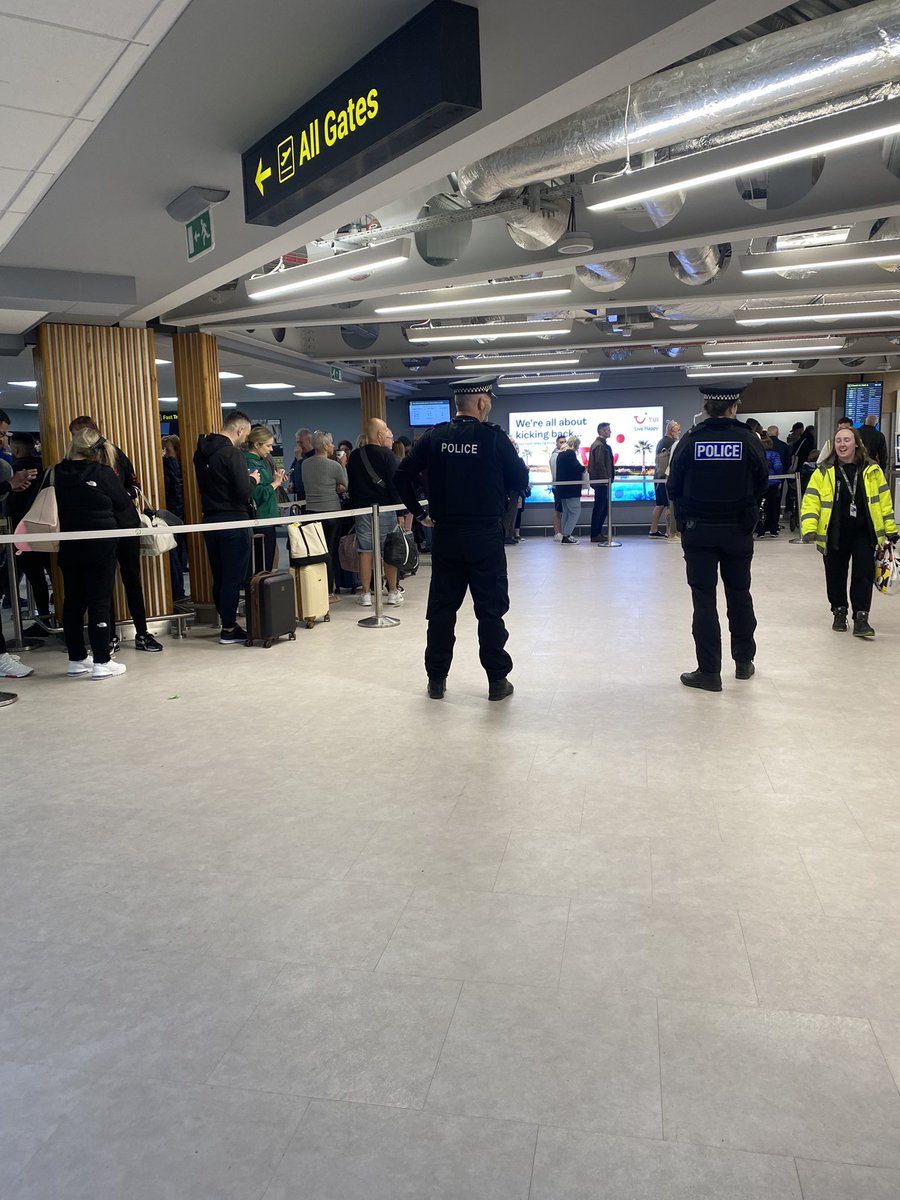
POLYGON ((470 614, 65 655, 0 713, 2 1200, 896 1200, 900 599, 757 546, 688 691, 679 547, 510 550, 470 614))

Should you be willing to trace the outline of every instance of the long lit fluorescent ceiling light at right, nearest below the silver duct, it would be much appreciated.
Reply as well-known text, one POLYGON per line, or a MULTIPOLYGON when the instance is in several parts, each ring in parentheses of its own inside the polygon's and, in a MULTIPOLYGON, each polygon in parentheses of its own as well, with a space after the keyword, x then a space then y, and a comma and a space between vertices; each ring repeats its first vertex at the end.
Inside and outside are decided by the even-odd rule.
MULTIPOLYGON (((830 142, 816 142, 798 150, 787 150, 784 154, 772 155, 768 158, 751 158, 738 163, 734 167, 725 167, 721 170, 696 172, 689 174, 688 162, 679 163, 666 170, 659 167, 646 167, 643 170, 632 170, 628 175, 619 175, 616 180, 606 180, 600 184, 586 184, 583 187, 584 204, 592 212, 605 212, 610 209, 622 209, 641 200, 656 199, 660 196, 672 196, 674 192, 689 192, 696 187, 708 187, 710 184, 719 184, 726 179, 734 179, 738 175, 754 175, 773 167, 781 167, 788 162, 799 162, 803 158, 816 158, 818 155, 832 154, 836 150, 848 150, 851 146, 863 145, 866 142, 880 142, 883 138, 894 137, 900 133, 900 122, 894 125, 881 125, 874 130, 863 130, 844 138, 834 138, 830 142), (653 186, 649 180, 661 179, 674 174, 676 178, 667 184, 653 186), (641 176, 648 180, 647 186, 641 186, 641 176), (595 199, 592 200, 592 197, 595 199)), ((697 156, 698 157, 698 156, 697 156)))

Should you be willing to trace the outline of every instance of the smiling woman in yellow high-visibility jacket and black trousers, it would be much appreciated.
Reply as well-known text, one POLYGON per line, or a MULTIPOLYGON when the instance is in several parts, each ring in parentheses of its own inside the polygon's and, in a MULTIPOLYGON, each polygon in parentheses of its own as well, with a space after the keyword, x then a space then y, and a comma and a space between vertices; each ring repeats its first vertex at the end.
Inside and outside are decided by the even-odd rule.
POLYGON ((852 608, 853 636, 875 637, 869 624, 875 548, 884 539, 896 542, 898 529, 884 473, 852 426, 838 430, 832 452, 812 474, 800 508, 800 534, 824 557, 832 629, 846 632, 852 608))

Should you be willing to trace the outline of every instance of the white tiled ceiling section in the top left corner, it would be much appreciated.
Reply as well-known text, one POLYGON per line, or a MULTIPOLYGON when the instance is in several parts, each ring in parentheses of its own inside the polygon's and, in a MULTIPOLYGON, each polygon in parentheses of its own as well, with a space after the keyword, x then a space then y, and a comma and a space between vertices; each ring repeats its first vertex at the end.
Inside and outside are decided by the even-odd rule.
POLYGON ((0 250, 188 4, 0 0, 0 250))

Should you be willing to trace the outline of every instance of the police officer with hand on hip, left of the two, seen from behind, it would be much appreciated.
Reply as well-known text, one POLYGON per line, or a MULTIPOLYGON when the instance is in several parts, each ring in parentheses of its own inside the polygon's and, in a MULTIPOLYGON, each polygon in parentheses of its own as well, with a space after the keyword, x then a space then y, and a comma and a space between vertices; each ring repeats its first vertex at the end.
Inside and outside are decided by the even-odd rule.
POLYGON ((499 425, 490 425, 493 379, 454 384, 456 416, 424 433, 395 475, 397 491, 410 512, 433 524, 428 634, 425 670, 428 695, 442 700, 454 656, 456 613, 472 592, 478 618, 481 666, 487 673, 488 700, 512 695, 506 676, 512 659, 505 650, 509 611, 503 516, 506 497, 524 492, 528 468, 499 425), (415 479, 428 474, 428 512, 415 496, 415 479))

